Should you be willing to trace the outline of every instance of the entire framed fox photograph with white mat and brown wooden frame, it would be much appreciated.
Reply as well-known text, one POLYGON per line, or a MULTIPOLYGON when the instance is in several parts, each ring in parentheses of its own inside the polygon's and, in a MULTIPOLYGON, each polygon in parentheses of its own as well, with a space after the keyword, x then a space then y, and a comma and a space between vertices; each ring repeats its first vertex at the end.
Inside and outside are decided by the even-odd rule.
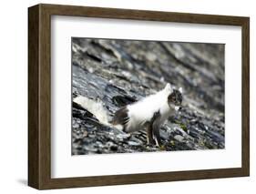
POLYGON ((250 174, 250 20, 28 8, 28 185, 250 174))

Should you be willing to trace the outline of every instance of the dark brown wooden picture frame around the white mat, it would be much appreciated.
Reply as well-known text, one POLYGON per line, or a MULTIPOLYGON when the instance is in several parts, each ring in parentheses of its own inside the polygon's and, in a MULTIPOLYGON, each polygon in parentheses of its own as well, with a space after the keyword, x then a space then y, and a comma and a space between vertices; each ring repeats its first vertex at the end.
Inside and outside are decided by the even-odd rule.
POLYGON ((58 189, 250 174, 250 19, 69 5, 35 5, 28 9, 28 185, 58 189), (51 15, 150 20, 242 28, 242 167, 146 174, 51 179, 51 15))

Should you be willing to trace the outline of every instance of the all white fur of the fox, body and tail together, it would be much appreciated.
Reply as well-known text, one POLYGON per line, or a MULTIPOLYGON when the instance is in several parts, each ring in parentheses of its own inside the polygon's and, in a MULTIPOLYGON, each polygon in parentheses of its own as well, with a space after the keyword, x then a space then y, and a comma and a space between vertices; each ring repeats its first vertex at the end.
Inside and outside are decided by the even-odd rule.
MULTIPOLYGON (((169 107, 168 105, 168 96, 172 91, 173 87, 167 84, 167 86, 158 93, 145 97, 132 105, 128 105, 129 121, 126 127, 127 132, 143 129, 145 122, 149 121, 157 111, 160 111, 160 122, 162 124, 175 110, 178 110, 179 107, 169 107)), ((82 96, 75 97, 73 101, 81 107, 86 108, 97 117, 102 124, 118 128, 119 130, 123 128, 121 125, 112 126, 112 124, 109 123, 108 110, 103 106, 101 101, 82 96)))

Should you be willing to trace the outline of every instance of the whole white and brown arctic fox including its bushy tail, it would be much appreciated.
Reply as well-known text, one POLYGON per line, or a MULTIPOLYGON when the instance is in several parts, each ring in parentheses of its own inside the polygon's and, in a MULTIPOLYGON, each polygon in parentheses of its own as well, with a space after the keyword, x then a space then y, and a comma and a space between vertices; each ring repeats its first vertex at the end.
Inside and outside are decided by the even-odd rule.
POLYGON ((181 88, 176 90, 167 84, 158 93, 118 109, 111 122, 109 122, 108 110, 101 101, 82 96, 75 97, 73 101, 86 108, 106 126, 118 128, 127 133, 146 128, 148 143, 153 144, 153 138, 155 138, 159 145, 159 128, 170 115, 179 110, 182 102, 181 93, 181 88))

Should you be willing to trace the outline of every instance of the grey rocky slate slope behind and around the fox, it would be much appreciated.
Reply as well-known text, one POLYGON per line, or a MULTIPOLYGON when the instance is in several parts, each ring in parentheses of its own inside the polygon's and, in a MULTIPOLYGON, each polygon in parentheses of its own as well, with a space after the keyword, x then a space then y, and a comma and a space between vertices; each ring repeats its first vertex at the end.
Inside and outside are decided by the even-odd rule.
POLYGON ((73 155, 225 147, 224 45, 72 38, 72 71, 73 155), (147 146, 143 130, 129 135, 97 119, 102 107, 111 119, 168 82, 183 88, 184 108, 162 126, 163 147, 147 146))

